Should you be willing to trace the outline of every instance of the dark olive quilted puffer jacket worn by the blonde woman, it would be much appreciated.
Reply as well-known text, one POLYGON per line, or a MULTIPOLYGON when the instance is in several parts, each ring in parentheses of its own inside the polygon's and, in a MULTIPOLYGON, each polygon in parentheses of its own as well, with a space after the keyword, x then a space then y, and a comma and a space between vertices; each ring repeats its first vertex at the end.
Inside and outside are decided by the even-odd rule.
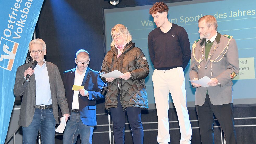
MULTIPOLYGON (((105 99, 105 108, 117 108, 117 95, 120 90, 120 102, 123 109, 127 107, 148 108, 148 99, 145 86, 145 78, 149 74, 148 62, 141 49, 135 47, 135 43, 125 45, 123 53, 117 58, 118 50, 111 47, 105 56, 100 75, 117 69, 122 73, 130 72, 132 78, 124 80, 114 79, 108 83, 108 91, 105 99), (118 89, 118 82, 119 87, 118 89)), ((103 82, 107 83, 104 77, 103 82)))

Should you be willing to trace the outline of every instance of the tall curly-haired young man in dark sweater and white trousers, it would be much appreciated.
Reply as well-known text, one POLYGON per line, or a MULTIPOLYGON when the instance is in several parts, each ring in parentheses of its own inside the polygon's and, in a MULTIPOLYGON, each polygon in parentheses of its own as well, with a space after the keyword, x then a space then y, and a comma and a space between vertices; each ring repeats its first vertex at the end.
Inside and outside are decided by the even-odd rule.
POLYGON ((150 59, 154 64, 152 80, 158 116, 157 142, 168 144, 169 92, 179 118, 181 144, 190 144, 192 130, 186 107, 184 70, 191 58, 188 34, 183 27, 170 23, 168 6, 157 2, 149 10, 157 26, 148 35, 150 59))

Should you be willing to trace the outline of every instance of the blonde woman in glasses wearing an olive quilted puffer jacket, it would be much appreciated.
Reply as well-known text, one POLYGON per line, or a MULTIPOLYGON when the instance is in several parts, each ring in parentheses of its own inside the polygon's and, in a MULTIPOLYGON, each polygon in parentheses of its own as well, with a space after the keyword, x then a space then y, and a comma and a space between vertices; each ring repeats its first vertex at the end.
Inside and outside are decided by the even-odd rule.
POLYGON ((149 67, 141 49, 135 47, 132 36, 122 24, 111 30, 111 50, 105 56, 100 75, 115 69, 122 72, 119 78, 104 78, 108 83, 105 108, 110 109, 116 144, 124 144, 125 112, 133 133, 133 143, 143 144, 141 108, 148 108, 145 78, 149 67))

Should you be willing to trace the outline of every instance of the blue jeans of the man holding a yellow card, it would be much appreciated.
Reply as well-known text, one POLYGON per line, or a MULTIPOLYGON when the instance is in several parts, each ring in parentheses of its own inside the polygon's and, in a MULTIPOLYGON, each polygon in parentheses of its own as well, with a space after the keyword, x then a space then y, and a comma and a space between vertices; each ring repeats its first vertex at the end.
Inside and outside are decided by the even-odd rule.
POLYGON ((79 113, 71 112, 63 134, 63 144, 73 144, 80 134, 81 144, 92 144, 92 133, 94 126, 84 125, 79 113))

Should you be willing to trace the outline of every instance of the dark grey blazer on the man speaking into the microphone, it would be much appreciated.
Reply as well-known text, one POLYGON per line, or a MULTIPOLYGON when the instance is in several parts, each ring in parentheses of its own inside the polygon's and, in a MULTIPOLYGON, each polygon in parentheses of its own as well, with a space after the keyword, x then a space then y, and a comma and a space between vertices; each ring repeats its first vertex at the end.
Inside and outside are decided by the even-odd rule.
MULTIPOLYGON (((35 75, 29 78, 29 81, 25 81, 24 85, 24 72, 32 65, 32 62, 21 65, 17 69, 16 79, 14 84, 14 95, 22 96, 21 110, 19 125, 22 127, 28 127, 32 122, 36 105, 36 81, 35 75)), ((69 114, 67 99, 65 97, 65 90, 61 80, 59 69, 56 65, 51 62, 46 62, 46 67, 48 70, 51 95, 52 95, 52 109, 53 115, 56 120, 56 123, 59 123, 58 120, 58 104, 60 106, 62 114, 69 114)))

